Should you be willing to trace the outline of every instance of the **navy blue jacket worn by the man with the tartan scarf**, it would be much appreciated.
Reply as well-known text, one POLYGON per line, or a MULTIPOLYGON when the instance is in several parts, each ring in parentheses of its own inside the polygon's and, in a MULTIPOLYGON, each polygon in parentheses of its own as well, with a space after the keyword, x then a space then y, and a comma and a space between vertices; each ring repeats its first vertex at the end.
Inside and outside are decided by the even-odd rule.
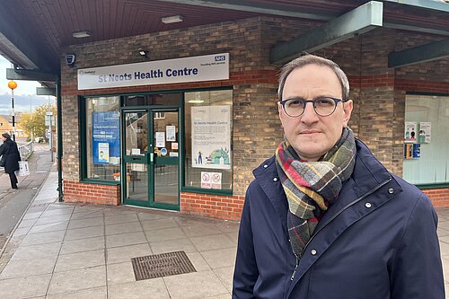
POLYGON ((274 157, 253 171, 239 232, 234 299, 445 298, 430 200, 356 143, 353 175, 297 266, 274 157))

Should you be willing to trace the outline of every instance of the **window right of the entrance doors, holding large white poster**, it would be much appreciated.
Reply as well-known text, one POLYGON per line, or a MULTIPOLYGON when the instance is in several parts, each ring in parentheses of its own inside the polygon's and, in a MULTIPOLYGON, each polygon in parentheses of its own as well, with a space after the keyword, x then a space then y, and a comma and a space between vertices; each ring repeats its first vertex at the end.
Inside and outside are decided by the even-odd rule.
POLYGON ((185 92, 184 186, 233 187, 233 91, 185 92))

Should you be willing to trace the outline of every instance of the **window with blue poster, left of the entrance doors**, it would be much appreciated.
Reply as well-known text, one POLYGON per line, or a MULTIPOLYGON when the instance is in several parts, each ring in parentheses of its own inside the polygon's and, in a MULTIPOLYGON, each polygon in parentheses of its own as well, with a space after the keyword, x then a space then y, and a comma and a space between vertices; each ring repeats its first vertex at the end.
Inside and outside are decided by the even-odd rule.
POLYGON ((118 96, 85 98, 84 144, 84 178, 114 180, 120 171, 118 96))

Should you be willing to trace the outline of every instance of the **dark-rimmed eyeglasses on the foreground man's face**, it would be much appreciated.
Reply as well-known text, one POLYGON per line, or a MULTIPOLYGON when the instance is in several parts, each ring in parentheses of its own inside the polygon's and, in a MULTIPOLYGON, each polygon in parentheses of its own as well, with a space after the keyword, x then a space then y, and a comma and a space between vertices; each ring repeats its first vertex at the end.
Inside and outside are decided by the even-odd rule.
POLYGON ((279 101, 279 103, 286 111, 286 115, 292 118, 297 118, 303 115, 305 110, 305 105, 308 102, 311 102, 313 105, 313 110, 316 114, 322 117, 330 116, 335 109, 337 108, 337 104, 339 101, 344 102, 341 99, 332 98, 332 97, 320 97, 315 100, 306 101, 301 98, 287 99, 279 101))

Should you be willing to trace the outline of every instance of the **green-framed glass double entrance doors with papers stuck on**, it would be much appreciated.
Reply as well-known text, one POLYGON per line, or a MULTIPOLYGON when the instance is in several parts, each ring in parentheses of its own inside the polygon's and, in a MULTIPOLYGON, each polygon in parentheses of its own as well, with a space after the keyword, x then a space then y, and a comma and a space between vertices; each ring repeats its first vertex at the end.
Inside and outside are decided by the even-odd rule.
POLYGON ((122 110, 121 186, 125 205, 178 210, 180 113, 178 108, 122 110))

